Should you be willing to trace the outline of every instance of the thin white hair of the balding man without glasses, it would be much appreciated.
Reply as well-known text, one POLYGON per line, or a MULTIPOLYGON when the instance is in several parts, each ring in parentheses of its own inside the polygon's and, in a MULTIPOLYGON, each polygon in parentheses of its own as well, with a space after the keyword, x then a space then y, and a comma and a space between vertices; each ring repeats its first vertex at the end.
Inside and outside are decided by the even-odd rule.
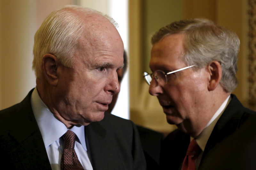
POLYGON ((36 77, 42 73, 41 62, 45 54, 50 53, 60 59, 66 66, 74 68, 74 57, 79 46, 79 37, 82 35, 83 18, 85 14, 95 13, 107 18, 115 27, 116 21, 99 11, 76 5, 67 5, 53 11, 42 23, 34 37, 33 70, 36 77), (81 14, 84 14, 81 16, 81 14))

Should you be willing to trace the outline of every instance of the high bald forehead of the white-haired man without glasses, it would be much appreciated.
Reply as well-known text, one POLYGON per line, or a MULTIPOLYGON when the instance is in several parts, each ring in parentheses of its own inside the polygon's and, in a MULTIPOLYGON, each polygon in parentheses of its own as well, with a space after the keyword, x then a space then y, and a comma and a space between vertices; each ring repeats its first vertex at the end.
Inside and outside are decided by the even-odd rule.
POLYGON ((80 57, 87 63, 109 64, 115 59, 116 64, 123 65, 124 44, 116 27, 100 15, 90 16, 89 19, 85 21, 79 39, 80 57))

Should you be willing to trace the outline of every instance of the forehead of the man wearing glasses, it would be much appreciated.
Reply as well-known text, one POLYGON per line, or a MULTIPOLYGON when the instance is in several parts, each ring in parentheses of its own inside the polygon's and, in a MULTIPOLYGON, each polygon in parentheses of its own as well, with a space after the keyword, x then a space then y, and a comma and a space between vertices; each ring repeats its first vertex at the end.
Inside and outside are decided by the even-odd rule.
POLYGON ((184 62, 184 34, 172 34, 155 43, 151 50, 149 67, 156 69, 176 69, 182 67, 184 62))

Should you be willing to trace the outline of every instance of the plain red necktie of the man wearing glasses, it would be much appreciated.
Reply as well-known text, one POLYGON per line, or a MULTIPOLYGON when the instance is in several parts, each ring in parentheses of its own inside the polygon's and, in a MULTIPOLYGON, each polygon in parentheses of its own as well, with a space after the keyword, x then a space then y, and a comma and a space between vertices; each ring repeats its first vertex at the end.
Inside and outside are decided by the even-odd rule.
POLYGON ((201 149, 197 145, 196 140, 191 140, 181 170, 196 170, 195 160, 200 152, 201 149))

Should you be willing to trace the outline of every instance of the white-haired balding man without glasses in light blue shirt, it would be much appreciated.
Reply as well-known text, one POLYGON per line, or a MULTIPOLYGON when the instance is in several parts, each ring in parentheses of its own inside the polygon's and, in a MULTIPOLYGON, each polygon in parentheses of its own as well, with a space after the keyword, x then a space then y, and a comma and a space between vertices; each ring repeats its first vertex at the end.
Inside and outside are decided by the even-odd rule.
POLYGON ((0 111, 2 169, 145 169, 135 125, 104 117, 124 64, 113 23, 78 6, 44 20, 35 35, 36 88, 0 111))

